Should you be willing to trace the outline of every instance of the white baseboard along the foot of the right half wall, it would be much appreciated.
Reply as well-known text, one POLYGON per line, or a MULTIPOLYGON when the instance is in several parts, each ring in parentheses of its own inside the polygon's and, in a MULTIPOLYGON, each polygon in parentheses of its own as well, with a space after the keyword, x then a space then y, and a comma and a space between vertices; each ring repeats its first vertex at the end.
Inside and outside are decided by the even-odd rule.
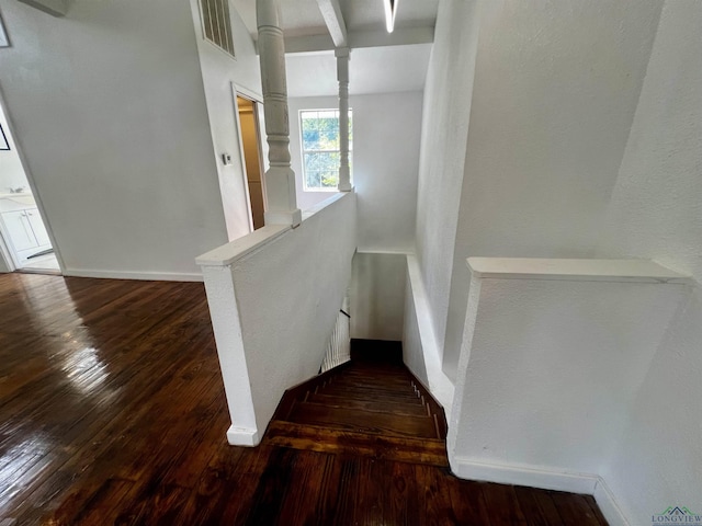
POLYGON ((600 480, 597 474, 567 473, 523 466, 479 464, 449 454, 451 469, 462 479, 497 482, 499 484, 528 485, 543 490, 595 494, 600 480))

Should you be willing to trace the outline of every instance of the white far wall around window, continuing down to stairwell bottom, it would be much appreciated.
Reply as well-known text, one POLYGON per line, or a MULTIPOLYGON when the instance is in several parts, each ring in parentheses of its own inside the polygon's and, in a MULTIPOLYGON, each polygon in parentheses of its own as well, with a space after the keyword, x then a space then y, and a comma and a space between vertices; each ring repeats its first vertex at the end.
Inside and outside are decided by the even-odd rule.
MULTIPOLYGON (((351 336, 403 339, 405 258, 414 249, 421 93, 353 95, 353 173, 358 245, 351 286, 351 336)), ((291 158, 297 205, 308 208, 328 192, 304 192, 299 110, 338 107, 337 98, 290 100, 291 158), (293 118, 295 122, 293 123, 293 118)))

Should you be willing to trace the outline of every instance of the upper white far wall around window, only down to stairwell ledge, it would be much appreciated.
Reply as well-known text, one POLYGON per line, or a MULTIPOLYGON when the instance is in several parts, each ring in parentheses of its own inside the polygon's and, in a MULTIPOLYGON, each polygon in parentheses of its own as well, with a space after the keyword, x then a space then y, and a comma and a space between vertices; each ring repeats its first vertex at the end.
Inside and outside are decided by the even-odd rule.
MULTIPOLYGON (((353 79, 351 79, 353 82, 353 79)), ((291 99, 291 164, 302 209, 329 197, 304 192, 299 110, 336 108, 338 99, 291 99), (295 122, 293 123, 293 119, 295 122)), ((359 206, 359 249, 407 252, 414 247, 421 93, 353 95, 352 182, 359 206)))

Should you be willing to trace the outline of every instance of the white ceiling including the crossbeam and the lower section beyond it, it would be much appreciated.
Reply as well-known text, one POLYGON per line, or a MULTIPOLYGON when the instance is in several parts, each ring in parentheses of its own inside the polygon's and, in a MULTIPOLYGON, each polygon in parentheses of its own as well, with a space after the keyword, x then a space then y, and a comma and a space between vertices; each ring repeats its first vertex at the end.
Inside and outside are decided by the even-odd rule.
MULTIPOLYGON (((256 39, 256 0, 230 1, 256 39)), ((288 95, 337 95, 333 43, 317 0, 279 1, 286 49, 306 52, 286 55, 288 95)), ((396 2, 395 32, 388 37, 383 0, 339 0, 351 46, 351 94, 424 88, 439 0, 396 2)))

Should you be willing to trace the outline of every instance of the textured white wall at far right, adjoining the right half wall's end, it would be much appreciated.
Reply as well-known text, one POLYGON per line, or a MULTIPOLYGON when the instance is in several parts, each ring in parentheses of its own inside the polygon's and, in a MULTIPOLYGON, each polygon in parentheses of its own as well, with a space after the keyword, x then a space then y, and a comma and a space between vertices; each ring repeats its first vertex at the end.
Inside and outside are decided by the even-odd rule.
POLYGON ((653 258, 697 281, 602 472, 631 524, 702 510, 702 4, 667 1, 600 251, 653 258))

